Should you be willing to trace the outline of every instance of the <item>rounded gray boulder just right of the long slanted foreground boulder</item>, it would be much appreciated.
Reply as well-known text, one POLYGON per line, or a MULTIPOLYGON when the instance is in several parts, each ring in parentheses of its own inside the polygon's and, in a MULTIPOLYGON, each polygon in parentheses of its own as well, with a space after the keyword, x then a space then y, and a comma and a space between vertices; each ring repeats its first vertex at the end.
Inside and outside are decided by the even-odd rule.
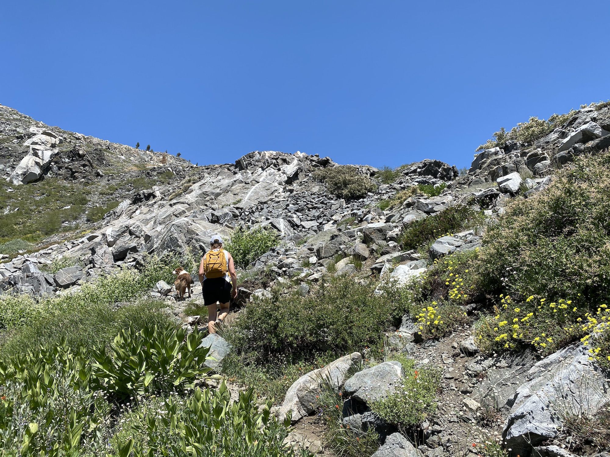
POLYGON ((391 394, 403 379, 400 362, 383 362, 357 372, 345 383, 345 393, 364 403, 375 402, 391 394))

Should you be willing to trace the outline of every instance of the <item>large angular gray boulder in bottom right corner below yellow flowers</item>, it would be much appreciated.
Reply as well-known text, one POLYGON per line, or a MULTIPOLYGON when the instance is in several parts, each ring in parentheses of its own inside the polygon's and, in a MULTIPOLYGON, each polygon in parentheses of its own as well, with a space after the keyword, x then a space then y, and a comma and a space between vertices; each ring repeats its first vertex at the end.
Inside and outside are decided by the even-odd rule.
POLYGON ((503 438, 515 455, 553 439, 563 411, 594 415, 608 401, 600 368, 589 360, 589 347, 572 344, 534 364, 514 397, 503 438))

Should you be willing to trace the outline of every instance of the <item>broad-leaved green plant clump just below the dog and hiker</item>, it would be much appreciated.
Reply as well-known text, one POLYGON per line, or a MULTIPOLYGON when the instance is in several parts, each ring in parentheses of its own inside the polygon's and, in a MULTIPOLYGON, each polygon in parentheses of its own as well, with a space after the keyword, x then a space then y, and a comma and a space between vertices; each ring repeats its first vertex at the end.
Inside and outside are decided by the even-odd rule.
POLYGON ((110 350, 106 344, 91 350, 93 375, 103 380, 100 390, 118 396, 192 388, 205 366, 209 347, 199 347, 204 334, 197 328, 186 336, 176 325, 145 325, 121 330, 110 350))

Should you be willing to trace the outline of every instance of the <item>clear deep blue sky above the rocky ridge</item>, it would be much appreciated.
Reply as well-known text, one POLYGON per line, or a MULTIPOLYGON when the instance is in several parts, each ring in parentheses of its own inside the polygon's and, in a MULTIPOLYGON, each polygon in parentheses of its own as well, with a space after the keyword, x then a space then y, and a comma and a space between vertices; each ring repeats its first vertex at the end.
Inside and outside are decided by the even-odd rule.
POLYGON ((199 165, 461 167, 499 127, 609 99, 609 19, 607 0, 4 2, 0 103, 199 165))

